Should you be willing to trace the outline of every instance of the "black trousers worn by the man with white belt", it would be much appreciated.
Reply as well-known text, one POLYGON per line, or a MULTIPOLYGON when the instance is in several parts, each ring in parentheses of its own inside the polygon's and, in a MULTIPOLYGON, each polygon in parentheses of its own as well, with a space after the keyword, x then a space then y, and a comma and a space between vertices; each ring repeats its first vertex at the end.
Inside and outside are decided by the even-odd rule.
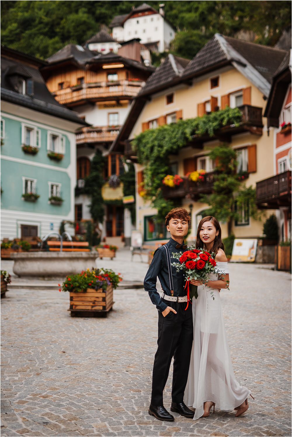
POLYGON ((188 309, 185 311, 186 302, 166 300, 163 302, 171 306, 177 314, 171 311, 163 317, 162 313, 158 312, 158 348, 153 364, 151 394, 151 403, 155 406, 163 405, 163 390, 172 357, 174 357, 174 372, 171 397, 173 402, 183 402, 194 336, 191 304, 188 304, 188 309))

